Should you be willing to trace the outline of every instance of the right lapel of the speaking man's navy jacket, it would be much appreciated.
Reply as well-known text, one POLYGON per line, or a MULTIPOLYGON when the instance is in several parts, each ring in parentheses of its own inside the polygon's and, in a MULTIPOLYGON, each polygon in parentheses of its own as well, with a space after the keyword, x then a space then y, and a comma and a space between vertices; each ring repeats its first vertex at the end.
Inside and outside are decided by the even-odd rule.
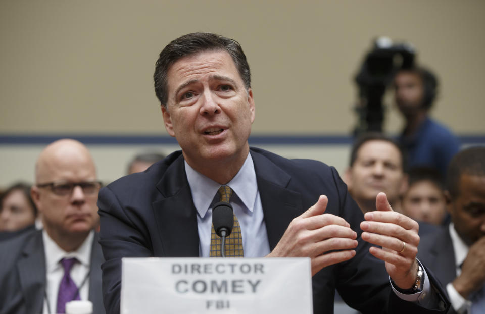
POLYGON ((302 195, 287 187, 291 177, 265 156, 251 151, 263 206, 270 249, 273 250, 289 223, 302 214, 302 195))

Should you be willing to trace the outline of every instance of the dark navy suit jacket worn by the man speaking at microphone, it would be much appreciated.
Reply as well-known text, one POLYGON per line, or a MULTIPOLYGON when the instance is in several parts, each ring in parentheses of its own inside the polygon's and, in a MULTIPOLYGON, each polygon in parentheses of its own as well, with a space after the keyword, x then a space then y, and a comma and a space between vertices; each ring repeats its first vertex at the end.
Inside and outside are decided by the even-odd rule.
MULTIPOLYGON (((362 312, 417 313, 421 307, 399 299, 391 290, 384 263, 368 253, 360 239, 363 214, 333 167, 312 160, 288 160, 251 148, 270 248, 293 218, 328 197, 326 213, 343 217, 358 233, 357 254, 313 276, 315 313, 332 313, 335 289, 362 312)), ((146 172, 123 177, 103 188, 98 200, 103 294, 109 314, 120 311, 122 257, 198 257, 199 235, 181 151, 146 172)), ((432 284, 435 284, 433 279, 432 284)), ((443 295, 442 288, 436 289, 443 295)), ((446 306, 447 301, 442 305, 446 306)))

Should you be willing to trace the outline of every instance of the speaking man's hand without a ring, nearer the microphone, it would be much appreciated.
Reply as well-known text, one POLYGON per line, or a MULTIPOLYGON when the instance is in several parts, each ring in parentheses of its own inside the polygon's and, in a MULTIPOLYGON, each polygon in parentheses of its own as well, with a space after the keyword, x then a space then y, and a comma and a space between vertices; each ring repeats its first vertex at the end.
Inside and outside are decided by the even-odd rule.
POLYGON ((327 203, 328 198, 320 195, 315 205, 294 218, 267 257, 310 257, 312 276, 326 266, 354 257, 357 233, 343 218, 324 214, 327 203))

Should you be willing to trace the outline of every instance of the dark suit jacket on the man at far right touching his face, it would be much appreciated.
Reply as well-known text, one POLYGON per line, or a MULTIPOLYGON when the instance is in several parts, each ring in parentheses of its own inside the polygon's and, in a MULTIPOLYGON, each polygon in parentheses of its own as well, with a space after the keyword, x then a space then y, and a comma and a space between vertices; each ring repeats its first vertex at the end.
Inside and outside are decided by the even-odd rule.
MULTIPOLYGON (((420 234, 420 236, 419 260, 433 272, 443 287, 446 287, 456 277, 455 251, 448 226, 440 228, 437 232, 420 234)), ((448 314, 452 313, 455 311, 450 306, 448 314)))

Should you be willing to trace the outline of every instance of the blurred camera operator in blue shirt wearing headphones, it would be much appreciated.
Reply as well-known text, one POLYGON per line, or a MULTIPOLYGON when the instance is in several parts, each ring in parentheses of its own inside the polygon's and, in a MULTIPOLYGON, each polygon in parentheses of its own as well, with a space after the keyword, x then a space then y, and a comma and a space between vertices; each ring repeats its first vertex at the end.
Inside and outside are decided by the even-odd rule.
POLYGON ((438 79, 424 68, 401 69, 394 78, 394 91, 405 119, 399 142, 408 154, 409 167, 433 167, 444 176, 460 145, 450 130, 429 117, 438 92, 438 79))

